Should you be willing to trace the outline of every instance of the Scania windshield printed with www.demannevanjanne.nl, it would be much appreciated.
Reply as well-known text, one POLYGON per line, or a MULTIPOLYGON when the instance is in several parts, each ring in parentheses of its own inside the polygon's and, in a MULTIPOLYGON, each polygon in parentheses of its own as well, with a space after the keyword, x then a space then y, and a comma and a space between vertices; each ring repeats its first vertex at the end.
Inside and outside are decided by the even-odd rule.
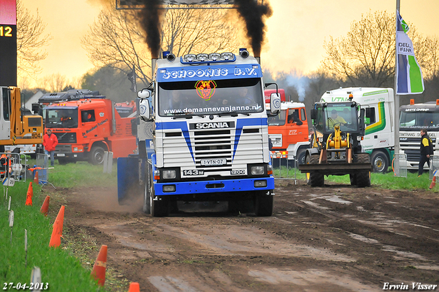
POLYGON ((260 78, 158 83, 161 116, 262 111, 265 104, 260 78))

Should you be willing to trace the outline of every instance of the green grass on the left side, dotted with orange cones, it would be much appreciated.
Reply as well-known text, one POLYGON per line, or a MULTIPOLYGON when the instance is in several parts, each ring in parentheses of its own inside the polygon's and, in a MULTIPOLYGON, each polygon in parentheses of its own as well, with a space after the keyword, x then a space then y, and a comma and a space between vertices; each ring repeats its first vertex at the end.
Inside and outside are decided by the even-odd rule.
MULTIPOLYGON (((32 162, 32 161, 31 161, 32 162)), ((102 166, 90 164, 69 164, 67 166, 55 165, 54 169, 48 170, 49 182, 57 188, 73 188, 75 186, 108 186, 115 183, 115 172, 103 174, 102 166)), ((49 240, 52 232, 54 218, 45 217, 40 213, 40 207, 44 196, 40 196, 40 185, 33 183, 33 205, 25 205, 29 181, 16 182, 8 188, 8 196, 11 196, 11 210, 14 210, 14 225, 9 227, 8 204, 5 204, 5 188, 1 193, 0 200, 0 284, 1 288, 9 289, 9 284, 16 286, 17 283, 27 284, 31 280, 31 272, 34 266, 40 267, 42 282, 49 285, 49 291, 107 291, 97 286, 96 281, 91 279, 90 273, 95 259, 86 259, 91 262, 88 269, 84 268, 84 253, 78 253, 82 260, 72 256, 72 249, 78 249, 80 243, 72 243, 68 240, 68 232, 64 227, 62 245, 59 248, 49 248, 49 240), (27 229, 27 256, 25 253, 25 229, 27 229), (26 259, 27 258, 27 259, 26 259)), ((51 188, 47 185, 43 188, 51 188)), ((51 205, 60 205, 57 198, 51 198, 51 205)), ((52 212, 54 213, 54 212, 52 212)), ((55 212, 58 213, 58 210, 55 212)), ((56 216, 55 214, 55 216, 56 216)), ((82 247, 86 248, 86 247, 82 247)), ((93 248, 100 248, 93 247, 93 248)), ((75 250, 75 254, 77 254, 75 250)), ((23 288, 22 288, 23 289, 23 288)), ((14 289, 10 289, 14 291, 14 289)))

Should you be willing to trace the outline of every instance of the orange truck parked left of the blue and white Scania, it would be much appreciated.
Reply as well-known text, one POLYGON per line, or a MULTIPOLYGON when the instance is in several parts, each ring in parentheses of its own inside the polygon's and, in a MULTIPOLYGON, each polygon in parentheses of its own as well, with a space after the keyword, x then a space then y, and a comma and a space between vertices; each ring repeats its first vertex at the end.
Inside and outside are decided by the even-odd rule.
POLYGON ((102 164, 104 151, 111 151, 113 158, 136 153, 135 117, 121 117, 104 96, 58 102, 44 111, 45 128, 58 137, 55 155, 60 164, 102 164))

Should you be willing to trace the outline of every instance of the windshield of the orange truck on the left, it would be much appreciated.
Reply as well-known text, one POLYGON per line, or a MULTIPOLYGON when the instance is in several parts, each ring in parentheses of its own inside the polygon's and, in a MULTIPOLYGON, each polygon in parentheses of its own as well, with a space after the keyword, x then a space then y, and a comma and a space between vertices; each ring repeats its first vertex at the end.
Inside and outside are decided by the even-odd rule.
POLYGON ((78 128, 78 108, 46 108, 46 128, 78 128))

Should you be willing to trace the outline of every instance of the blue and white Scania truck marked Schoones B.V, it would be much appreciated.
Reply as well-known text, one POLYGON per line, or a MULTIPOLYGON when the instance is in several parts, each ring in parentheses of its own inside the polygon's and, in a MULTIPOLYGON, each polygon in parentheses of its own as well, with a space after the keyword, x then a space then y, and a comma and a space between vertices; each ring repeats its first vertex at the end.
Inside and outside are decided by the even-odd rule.
MULTIPOLYGON (((177 201, 252 200, 271 216, 274 177, 257 58, 164 52, 137 98, 139 154, 117 161, 118 199, 142 195, 143 211, 167 216, 177 201), (137 193, 137 194, 136 194, 137 193)), ((281 98, 271 96, 270 113, 281 98)))

